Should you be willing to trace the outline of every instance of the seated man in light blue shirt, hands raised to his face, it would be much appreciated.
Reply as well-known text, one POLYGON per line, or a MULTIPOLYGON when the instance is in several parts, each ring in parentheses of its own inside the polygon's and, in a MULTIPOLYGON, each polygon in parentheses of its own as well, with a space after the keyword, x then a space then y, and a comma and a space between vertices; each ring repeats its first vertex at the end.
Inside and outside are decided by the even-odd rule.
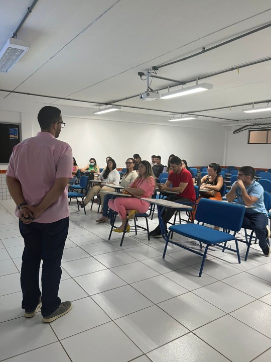
POLYGON ((271 249, 269 245, 270 230, 268 228, 268 216, 263 203, 263 188, 253 180, 255 171, 251 166, 243 166, 238 170, 237 180, 226 195, 228 202, 235 198, 238 204, 254 206, 246 209, 242 228, 252 229, 264 256, 269 256, 271 249))

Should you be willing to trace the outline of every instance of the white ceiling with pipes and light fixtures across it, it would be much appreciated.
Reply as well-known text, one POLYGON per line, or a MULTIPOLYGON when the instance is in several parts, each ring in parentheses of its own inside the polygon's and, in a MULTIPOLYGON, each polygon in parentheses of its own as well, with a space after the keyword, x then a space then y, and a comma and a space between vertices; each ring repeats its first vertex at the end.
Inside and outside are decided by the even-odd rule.
MULTIPOLYGON (((1 1, 0 49, 32 3, 1 1)), ((271 27, 157 71, 159 76, 183 81, 203 77, 199 82, 214 85, 204 94, 142 101, 138 95, 146 91, 147 83, 138 72, 266 25, 271 19, 269 8, 269 0, 39 0, 17 35, 30 42, 29 51, 8 73, 0 73, 0 89, 39 97, 1 91, 0 99, 81 108, 114 102, 123 106, 108 116, 114 120, 135 113, 136 120, 151 115, 165 123, 172 114, 182 112, 220 124, 255 118, 241 112, 247 106, 233 106, 271 100, 271 61, 239 72, 204 76, 270 57, 271 27), (211 110, 216 108, 224 109, 211 110)), ((151 87, 156 90, 173 84, 153 78, 151 87)), ((265 121, 270 118, 258 120, 265 121)))

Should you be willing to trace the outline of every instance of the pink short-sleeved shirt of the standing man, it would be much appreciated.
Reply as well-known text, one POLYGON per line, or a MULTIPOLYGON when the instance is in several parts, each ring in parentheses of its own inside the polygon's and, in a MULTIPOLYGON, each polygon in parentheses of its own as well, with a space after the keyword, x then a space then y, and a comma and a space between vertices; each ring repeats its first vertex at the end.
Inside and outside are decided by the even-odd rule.
MULTIPOLYGON (((22 185, 28 205, 38 205, 54 186, 56 178, 72 177, 72 149, 49 132, 38 132, 13 148, 7 175, 22 185)), ((19 210, 16 208, 16 216, 19 210)), ((68 187, 35 222, 51 223, 69 216, 68 187)))

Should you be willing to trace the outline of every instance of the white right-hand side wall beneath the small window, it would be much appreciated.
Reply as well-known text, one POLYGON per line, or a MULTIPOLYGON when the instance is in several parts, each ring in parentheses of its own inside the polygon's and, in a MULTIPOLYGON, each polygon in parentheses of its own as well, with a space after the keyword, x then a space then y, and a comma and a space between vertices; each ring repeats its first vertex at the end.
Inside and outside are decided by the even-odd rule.
POLYGON ((271 168, 271 144, 247 144, 248 131, 228 132, 227 165, 271 168))

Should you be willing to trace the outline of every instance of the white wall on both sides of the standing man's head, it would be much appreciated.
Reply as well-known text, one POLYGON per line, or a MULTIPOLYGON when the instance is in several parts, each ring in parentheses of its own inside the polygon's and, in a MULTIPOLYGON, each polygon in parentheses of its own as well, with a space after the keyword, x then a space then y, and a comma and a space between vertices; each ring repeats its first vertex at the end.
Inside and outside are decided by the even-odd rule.
MULTIPOLYGON (((43 106, 0 100, 0 109, 6 109, 3 112, 9 114, 6 118, 9 122, 21 119, 23 139, 35 136, 40 130, 37 114, 43 106)), ((210 162, 223 164, 225 132, 218 124, 188 122, 181 126, 169 126, 165 117, 126 112, 119 112, 112 121, 105 117, 88 118, 90 110, 87 108, 60 108, 66 126, 59 139, 71 145, 79 167, 85 166, 90 157, 96 158, 98 165, 103 167, 108 155, 115 159, 117 167, 123 167, 126 158, 134 153, 149 161, 152 154, 159 154, 163 164, 167 163, 171 153, 186 159, 190 166, 210 162)), ((0 167, 5 169, 7 165, 0 167)))

